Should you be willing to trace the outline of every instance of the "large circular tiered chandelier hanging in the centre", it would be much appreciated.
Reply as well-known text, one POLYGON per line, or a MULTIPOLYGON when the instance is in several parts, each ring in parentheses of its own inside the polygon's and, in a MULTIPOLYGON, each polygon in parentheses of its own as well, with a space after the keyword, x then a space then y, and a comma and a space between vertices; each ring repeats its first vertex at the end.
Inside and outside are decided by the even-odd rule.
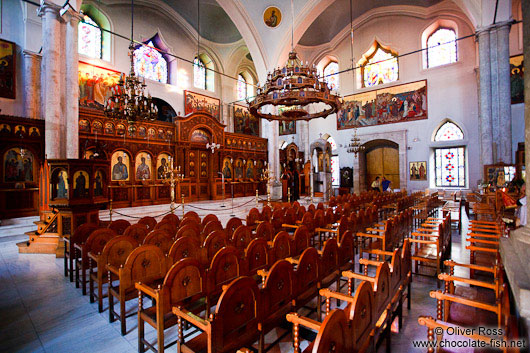
POLYGON ((316 68, 304 65, 293 50, 283 68, 267 75, 248 105, 251 114, 261 119, 309 121, 337 113, 341 101, 325 82, 319 81, 316 68))

